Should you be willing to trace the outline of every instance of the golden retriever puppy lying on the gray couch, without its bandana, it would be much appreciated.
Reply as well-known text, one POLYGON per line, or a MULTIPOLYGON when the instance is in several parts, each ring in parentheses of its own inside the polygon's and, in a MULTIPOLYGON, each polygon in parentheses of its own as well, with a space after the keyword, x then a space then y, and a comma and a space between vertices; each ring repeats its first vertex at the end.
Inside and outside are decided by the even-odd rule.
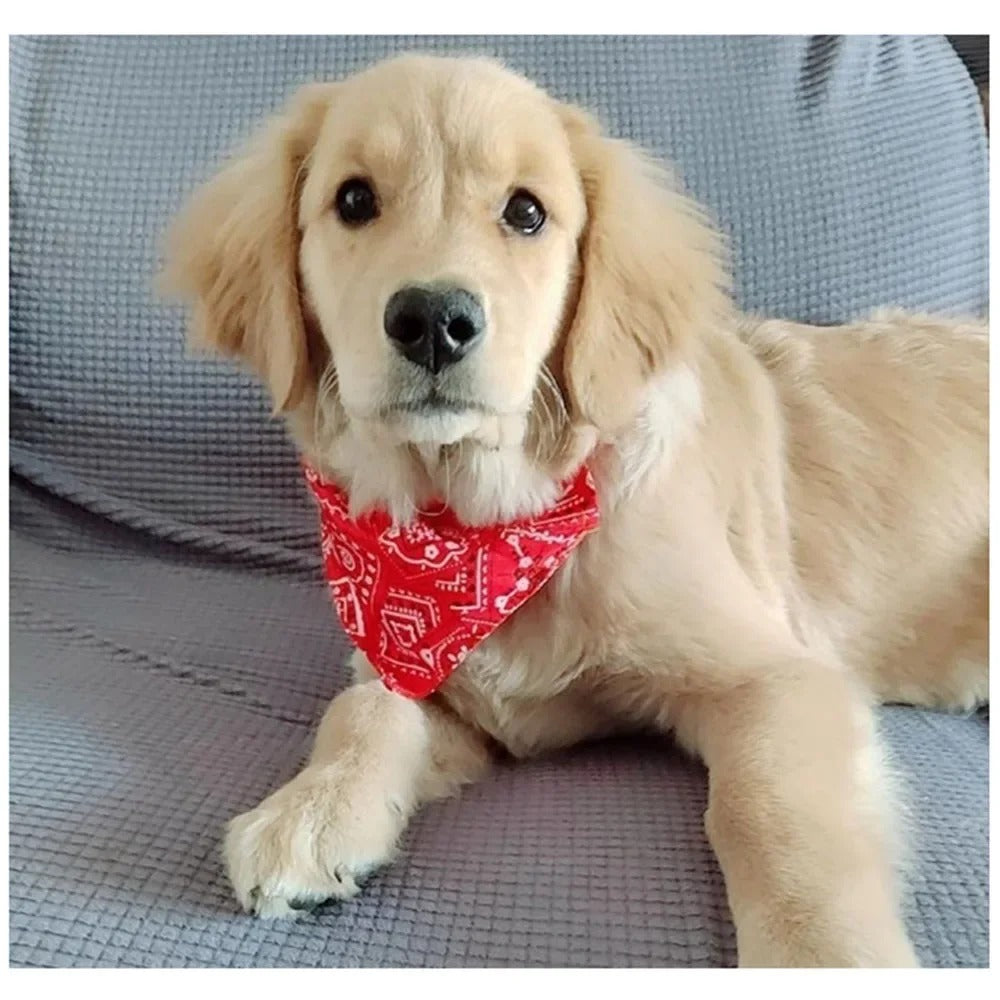
POLYGON ((264 917, 345 899, 422 803, 658 727, 709 771, 743 965, 915 964, 872 706, 987 697, 987 333, 739 315, 666 172, 502 67, 308 86, 193 198, 167 279, 304 461, 405 525, 600 526, 429 697, 355 654, 225 860, 264 917))

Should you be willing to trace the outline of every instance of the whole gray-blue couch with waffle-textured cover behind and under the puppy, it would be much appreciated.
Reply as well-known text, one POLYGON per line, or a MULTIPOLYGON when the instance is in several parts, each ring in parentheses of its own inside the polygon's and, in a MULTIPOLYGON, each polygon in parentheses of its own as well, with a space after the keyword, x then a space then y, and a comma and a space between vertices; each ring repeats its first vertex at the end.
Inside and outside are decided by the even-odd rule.
MULTIPOLYGON (((295 771, 347 647, 294 455, 245 375, 184 355, 159 239, 296 85, 427 47, 499 55, 673 160, 749 309, 986 312, 986 135, 943 37, 13 39, 15 966, 734 961, 704 773, 660 742, 499 768, 297 924, 227 889, 223 823, 295 771)), ((988 721, 881 721, 920 957, 984 965, 988 721)))

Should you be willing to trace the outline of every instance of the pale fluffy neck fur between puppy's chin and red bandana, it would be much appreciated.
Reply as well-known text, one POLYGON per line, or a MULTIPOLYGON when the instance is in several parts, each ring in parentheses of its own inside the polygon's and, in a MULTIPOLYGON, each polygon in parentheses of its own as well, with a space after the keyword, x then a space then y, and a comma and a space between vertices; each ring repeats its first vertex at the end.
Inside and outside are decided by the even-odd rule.
POLYGON ((374 425, 291 421, 303 457, 350 498, 352 514, 372 507, 405 523, 444 500, 469 525, 532 517, 555 503, 563 481, 588 462, 606 513, 634 496, 701 420, 694 370, 678 366, 653 380, 638 416, 613 437, 567 422, 558 441, 528 447, 526 428, 486 428, 454 444, 400 443, 374 425), (309 425, 309 433, 305 433, 309 425))

